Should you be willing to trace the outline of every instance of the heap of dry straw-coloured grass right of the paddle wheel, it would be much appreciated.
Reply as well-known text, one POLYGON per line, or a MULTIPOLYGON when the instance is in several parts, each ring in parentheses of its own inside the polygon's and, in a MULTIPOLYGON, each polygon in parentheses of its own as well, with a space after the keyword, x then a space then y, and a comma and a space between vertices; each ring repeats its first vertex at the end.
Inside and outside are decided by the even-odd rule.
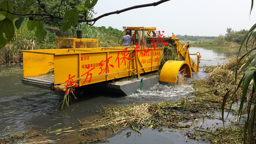
MULTIPOLYGON (((194 93, 202 93, 198 94, 197 97, 204 97, 204 100, 212 103, 222 103, 229 86, 235 84, 234 69, 237 62, 236 59, 236 56, 232 56, 219 66, 207 66, 205 72, 209 73, 209 76, 191 83, 193 88, 196 89, 194 93)), ((245 63, 245 60, 241 61, 239 68, 244 68, 245 63)), ((242 76, 237 77, 239 80, 241 78, 242 76)), ((235 91, 233 90, 232 92, 235 91)), ((236 95, 241 94, 241 92, 241 90, 237 91, 236 95)))

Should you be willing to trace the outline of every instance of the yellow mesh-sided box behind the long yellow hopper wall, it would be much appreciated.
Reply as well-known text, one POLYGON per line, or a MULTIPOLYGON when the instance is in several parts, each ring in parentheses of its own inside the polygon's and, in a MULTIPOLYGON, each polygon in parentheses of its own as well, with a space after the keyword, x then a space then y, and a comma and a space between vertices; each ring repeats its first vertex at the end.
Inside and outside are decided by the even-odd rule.
POLYGON ((98 47, 98 41, 95 41, 95 39, 56 38, 56 43, 57 49, 98 47))

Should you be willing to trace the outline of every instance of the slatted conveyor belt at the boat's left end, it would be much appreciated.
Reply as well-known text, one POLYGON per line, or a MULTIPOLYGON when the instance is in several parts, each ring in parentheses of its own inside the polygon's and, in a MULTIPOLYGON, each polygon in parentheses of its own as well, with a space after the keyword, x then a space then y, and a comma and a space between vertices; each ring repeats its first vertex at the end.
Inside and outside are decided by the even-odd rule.
POLYGON ((22 79, 22 83, 45 89, 51 89, 51 86, 54 84, 54 75, 25 77, 22 79))

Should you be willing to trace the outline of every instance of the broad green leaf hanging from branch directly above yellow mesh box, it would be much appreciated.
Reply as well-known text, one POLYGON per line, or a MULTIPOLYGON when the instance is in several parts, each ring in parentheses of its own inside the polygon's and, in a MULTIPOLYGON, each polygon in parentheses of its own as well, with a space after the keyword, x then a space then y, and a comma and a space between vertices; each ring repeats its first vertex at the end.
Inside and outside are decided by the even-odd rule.
POLYGON ((71 9, 65 12, 63 17, 62 33, 66 32, 72 26, 74 27, 78 23, 78 13, 76 9, 71 9))

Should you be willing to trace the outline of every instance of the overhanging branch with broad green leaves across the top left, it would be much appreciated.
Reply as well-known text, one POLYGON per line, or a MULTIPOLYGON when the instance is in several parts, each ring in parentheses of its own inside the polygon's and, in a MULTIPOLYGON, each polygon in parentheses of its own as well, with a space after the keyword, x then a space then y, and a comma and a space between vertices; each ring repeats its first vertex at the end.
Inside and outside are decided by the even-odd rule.
POLYGON ((75 27, 78 22, 86 22, 88 25, 93 25, 97 20, 108 15, 119 14, 142 7, 156 6, 167 1, 170 0, 160 0, 150 4, 135 5, 119 11, 108 12, 92 19, 89 15, 94 13, 93 7, 97 4, 98 0, 60 0, 60 2, 57 1, 58 4, 54 6, 54 10, 55 8, 58 9, 57 13, 52 12, 52 9, 49 8, 51 2, 48 1, 45 1, 45 4, 41 2, 41 0, 27 0, 25 3, 14 0, 0 0, 0 15, 4 16, 4 20, 0 21, 0 48, 7 44, 7 40, 12 40, 14 36, 14 25, 19 29, 24 20, 28 20, 28 30, 33 31, 36 28, 35 35, 38 41, 42 41, 46 36, 44 23, 52 23, 54 19, 63 20, 62 32, 66 32, 71 28, 71 25, 75 27), (67 5, 67 2, 73 2, 73 4, 79 3, 79 5, 70 7, 67 5), (84 5, 81 5, 82 3, 84 3, 84 5), (61 7, 69 7, 69 9, 61 10, 61 7))

